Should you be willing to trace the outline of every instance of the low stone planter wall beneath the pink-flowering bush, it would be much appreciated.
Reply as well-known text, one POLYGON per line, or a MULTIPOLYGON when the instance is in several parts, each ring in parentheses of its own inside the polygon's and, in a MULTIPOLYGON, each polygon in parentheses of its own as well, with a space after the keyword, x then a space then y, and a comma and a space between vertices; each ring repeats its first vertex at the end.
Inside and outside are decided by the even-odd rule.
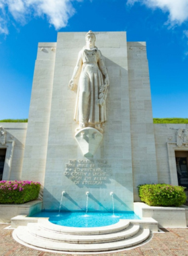
POLYGON ((23 204, 0 204, 0 222, 10 223, 18 215, 32 216, 42 210, 42 201, 34 200, 23 204))

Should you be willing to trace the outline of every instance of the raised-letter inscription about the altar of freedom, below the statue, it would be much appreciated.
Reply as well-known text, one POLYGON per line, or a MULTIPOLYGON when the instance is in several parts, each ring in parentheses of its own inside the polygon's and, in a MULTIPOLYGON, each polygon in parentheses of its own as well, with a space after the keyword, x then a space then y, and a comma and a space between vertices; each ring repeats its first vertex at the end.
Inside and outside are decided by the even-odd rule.
POLYGON ((107 160, 69 160, 64 176, 77 185, 103 185, 112 176, 107 160))

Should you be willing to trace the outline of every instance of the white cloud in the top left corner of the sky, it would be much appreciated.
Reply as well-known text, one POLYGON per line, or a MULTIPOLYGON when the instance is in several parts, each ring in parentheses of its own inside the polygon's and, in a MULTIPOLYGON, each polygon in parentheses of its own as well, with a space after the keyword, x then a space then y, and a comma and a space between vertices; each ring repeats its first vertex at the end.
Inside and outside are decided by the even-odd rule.
POLYGON ((65 27, 75 13, 71 0, 0 0, 0 10, 0 33, 4 34, 8 34, 9 14, 21 23, 26 22, 28 16, 46 15, 48 22, 58 30, 65 27))

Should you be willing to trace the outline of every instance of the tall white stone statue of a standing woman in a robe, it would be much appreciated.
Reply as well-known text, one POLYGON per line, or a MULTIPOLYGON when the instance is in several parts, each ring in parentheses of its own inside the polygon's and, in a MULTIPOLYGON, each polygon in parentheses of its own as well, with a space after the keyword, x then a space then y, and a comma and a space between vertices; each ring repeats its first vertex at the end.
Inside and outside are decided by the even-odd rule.
POLYGON ((79 52, 77 65, 69 82, 69 88, 75 90, 76 80, 79 78, 74 119, 79 123, 77 131, 84 127, 94 127, 103 132, 101 123, 107 120, 105 100, 109 77, 101 51, 95 46, 95 34, 91 30, 86 34, 85 40, 86 45, 79 52))

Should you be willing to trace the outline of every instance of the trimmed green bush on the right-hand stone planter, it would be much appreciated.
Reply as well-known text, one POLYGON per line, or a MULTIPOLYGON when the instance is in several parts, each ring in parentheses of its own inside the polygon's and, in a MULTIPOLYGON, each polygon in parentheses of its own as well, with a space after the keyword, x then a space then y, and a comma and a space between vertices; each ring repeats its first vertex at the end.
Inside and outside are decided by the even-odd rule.
POLYGON ((186 202, 185 187, 168 184, 139 185, 141 201, 150 206, 180 206, 186 202))

